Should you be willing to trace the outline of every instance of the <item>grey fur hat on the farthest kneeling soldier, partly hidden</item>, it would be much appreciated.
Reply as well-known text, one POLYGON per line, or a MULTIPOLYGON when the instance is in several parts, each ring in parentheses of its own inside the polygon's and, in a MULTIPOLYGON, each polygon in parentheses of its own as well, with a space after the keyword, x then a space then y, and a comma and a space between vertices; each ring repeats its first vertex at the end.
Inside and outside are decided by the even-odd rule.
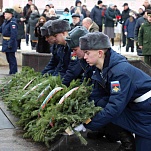
POLYGON ((51 35, 52 35, 52 33, 49 32, 49 29, 51 29, 51 23, 52 23, 52 20, 48 20, 48 21, 45 22, 45 24, 40 28, 41 35, 42 35, 42 36, 51 36, 51 35))

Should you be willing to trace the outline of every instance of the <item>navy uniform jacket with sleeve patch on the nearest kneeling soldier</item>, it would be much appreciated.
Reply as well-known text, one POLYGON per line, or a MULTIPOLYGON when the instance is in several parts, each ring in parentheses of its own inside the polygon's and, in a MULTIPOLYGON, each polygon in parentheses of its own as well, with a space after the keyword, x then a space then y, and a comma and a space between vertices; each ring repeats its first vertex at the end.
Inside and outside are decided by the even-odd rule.
POLYGON ((105 98, 102 104, 104 109, 84 126, 96 131, 113 122, 138 136, 151 139, 151 98, 134 102, 151 90, 151 77, 110 49, 102 71, 96 69, 92 79, 100 87, 100 100, 95 103, 98 106, 105 98))

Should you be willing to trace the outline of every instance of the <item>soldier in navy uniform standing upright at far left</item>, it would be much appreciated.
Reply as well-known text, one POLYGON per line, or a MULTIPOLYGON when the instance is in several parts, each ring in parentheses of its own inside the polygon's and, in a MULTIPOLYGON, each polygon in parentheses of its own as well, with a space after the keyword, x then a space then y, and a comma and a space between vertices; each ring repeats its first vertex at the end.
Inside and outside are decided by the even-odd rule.
POLYGON ((17 72, 17 61, 15 52, 17 51, 17 23, 13 17, 14 10, 5 9, 5 21, 0 27, 0 33, 3 35, 2 52, 5 52, 7 62, 9 63, 9 74, 17 72))

